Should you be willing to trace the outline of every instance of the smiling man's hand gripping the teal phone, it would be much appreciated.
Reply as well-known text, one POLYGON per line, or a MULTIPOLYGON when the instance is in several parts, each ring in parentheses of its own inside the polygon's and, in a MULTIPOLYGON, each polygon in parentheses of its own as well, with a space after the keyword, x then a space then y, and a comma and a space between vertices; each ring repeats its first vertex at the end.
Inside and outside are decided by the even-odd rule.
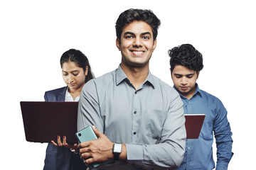
POLYGON ((82 142, 78 145, 78 148, 80 148, 81 159, 84 160, 85 164, 105 162, 113 159, 114 155, 112 153, 112 147, 114 142, 111 142, 107 136, 97 130, 94 125, 92 126, 92 129, 98 138, 97 140, 82 142))

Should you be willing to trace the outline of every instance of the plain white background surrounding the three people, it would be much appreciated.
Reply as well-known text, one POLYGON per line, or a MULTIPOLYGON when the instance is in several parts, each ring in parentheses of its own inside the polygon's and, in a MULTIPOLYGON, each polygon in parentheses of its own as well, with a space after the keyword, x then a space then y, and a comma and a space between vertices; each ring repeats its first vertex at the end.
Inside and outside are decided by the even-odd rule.
POLYGON ((87 55, 96 77, 116 69, 114 24, 127 8, 149 8, 161 20, 150 62, 156 77, 173 86, 174 46, 191 43, 203 54, 198 84, 223 101, 233 132, 229 169, 254 168, 253 1, 9 0, 0 2, 0 169, 43 169, 46 144, 26 142, 19 102, 43 101, 45 91, 65 86, 59 60, 70 48, 87 55))

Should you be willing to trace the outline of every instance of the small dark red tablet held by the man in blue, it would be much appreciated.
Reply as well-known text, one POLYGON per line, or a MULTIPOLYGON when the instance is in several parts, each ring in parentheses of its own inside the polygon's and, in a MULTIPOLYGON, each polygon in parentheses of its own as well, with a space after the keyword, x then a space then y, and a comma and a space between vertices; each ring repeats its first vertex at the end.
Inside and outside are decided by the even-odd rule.
POLYGON ((201 128, 203 126, 203 120, 205 119, 205 114, 184 114, 186 118, 186 135, 187 139, 198 139, 201 128))

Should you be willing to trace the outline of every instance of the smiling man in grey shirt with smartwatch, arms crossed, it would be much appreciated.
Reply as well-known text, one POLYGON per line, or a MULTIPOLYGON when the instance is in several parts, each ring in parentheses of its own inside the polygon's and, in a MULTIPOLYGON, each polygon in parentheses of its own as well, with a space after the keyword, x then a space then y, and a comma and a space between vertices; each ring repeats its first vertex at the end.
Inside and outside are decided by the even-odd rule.
POLYGON ((97 140, 79 145, 81 158, 99 169, 174 169, 186 144, 178 93, 149 72, 159 19, 129 9, 116 23, 119 67, 88 81, 80 94, 78 130, 94 125, 97 140), (95 128, 97 127, 97 128, 95 128))

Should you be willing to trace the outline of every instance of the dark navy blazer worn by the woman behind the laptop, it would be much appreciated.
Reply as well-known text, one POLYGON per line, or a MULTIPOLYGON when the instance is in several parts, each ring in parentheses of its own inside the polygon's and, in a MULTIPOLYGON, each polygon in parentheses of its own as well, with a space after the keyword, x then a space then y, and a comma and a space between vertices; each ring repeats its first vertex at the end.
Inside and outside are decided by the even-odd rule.
MULTIPOLYGON (((68 86, 46 91, 45 101, 65 101, 68 86)), ((56 137, 57 139, 57 137, 56 137)), ((67 147, 55 147, 49 143, 46 149, 46 159, 43 170, 85 170, 87 166, 80 159, 79 154, 70 152, 67 147)))

